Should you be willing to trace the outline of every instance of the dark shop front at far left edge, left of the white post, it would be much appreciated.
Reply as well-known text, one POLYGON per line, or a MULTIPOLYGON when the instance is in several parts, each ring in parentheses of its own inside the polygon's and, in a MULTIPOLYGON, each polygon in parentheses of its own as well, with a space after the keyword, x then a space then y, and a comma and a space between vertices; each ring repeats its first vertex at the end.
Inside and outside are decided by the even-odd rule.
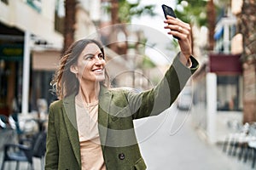
POLYGON ((0 23, 0 114, 20 111, 24 34, 0 23))

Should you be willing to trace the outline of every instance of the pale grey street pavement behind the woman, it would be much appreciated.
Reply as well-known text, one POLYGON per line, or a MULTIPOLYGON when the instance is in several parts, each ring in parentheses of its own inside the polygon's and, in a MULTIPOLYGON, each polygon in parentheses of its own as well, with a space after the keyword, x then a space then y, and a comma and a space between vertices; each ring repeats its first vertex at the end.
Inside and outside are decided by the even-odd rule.
MULTIPOLYGON (((178 111, 173 105, 160 116, 135 121, 137 139, 148 170, 250 170, 251 160, 239 161, 217 144, 209 144, 192 126, 189 111, 178 111)), ((1 138, 5 137, 0 131, 1 138)), ((3 149, 0 150, 0 165, 3 149)), ((15 162, 6 163, 6 170, 15 169, 15 162)), ((20 170, 28 165, 20 162, 20 170)), ((34 169, 41 170, 41 161, 34 158, 34 169)))

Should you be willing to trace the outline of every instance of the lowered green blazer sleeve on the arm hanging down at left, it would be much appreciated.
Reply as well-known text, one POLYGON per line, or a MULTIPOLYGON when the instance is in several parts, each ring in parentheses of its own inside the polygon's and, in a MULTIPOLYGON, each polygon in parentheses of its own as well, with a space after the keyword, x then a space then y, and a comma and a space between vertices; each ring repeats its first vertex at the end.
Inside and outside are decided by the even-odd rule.
POLYGON ((54 105, 49 106, 49 121, 46 139, 45 170, 58 169, 59 146, 55 131, 54 105))

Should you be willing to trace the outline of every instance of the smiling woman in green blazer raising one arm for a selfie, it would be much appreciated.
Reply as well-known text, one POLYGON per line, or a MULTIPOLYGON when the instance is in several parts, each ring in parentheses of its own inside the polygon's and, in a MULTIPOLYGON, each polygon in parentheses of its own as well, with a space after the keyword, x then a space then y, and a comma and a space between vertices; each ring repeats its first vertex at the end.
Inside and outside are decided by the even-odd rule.
POLYGON ((189 25, 170 16, 165 23, 181 52, 159 84, 140 94, 108 87, 99 42, 82 39, 67 50, 54 79, 60 100, 49 107, 45 169, 146 169, 133 120, 170 107, 198 68, 189 25))

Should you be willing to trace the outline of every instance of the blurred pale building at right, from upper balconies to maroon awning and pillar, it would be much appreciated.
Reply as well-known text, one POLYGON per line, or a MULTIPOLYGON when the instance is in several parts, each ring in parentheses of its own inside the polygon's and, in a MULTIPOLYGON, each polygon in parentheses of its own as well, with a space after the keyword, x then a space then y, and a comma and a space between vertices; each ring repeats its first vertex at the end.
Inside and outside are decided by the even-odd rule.
POLYGON ((230 133, 230 122, 242 122, 243 49, 234 13, 241 9, 241 2, 232 1, 232 5, 223 8, 215 27, 214 50, 207 54, 194 77, 193 119, 212 143, 224 140, 230 133))

